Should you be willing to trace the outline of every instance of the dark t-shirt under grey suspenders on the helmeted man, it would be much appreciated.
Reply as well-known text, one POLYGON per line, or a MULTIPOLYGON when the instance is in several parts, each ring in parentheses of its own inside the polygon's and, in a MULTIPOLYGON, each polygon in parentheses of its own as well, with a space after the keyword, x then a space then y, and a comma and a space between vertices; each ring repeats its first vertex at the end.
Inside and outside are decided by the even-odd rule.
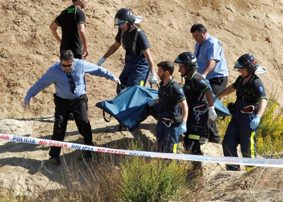
MULTIPOLYGON (((133 55, 133 42, 134 42, 137 30, 138 29, 135 28, 132 32, 127 32, 127 33, 124 32, 123 45, 126 50, 126 55, 133 55)), ((121 43, 121 34, 122 34, 122 29, 119 29, 115 37, 116 42, 121 43)), ((147 40, 147 36, 144 34, 143 31, 140 31, 136 39, 136 54, 140 54, 141 51, 144 51, 148 48, 150 48, 150 46, 147 40)))

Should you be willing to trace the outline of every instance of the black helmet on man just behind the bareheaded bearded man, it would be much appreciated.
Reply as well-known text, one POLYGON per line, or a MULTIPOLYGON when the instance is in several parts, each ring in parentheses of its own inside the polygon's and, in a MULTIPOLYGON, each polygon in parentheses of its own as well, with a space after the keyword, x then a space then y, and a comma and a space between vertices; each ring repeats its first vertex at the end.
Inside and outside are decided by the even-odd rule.
POLYGON ((197 58, 192 52, 183 52, 174 60, 175 63, 184 64, 186 67, 186 74, 191 70, 197 69, 197 58))

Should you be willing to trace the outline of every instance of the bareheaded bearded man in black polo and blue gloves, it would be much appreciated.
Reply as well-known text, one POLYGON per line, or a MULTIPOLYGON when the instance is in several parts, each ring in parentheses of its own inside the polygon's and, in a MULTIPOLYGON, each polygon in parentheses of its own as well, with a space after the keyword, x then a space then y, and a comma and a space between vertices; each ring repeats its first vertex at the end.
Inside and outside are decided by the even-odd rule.
POLYGON ((187 130, 188 106, 182 87, 172 77, 174 64, 170 61, 157 64, 160 87, 158 97, 149 99, 149 106, 159 103, 159 120, 156 126, 157 145, 160 152, 178 153, 179 135, 187 130), (182 108, 182 114, 181 114, 182 108))

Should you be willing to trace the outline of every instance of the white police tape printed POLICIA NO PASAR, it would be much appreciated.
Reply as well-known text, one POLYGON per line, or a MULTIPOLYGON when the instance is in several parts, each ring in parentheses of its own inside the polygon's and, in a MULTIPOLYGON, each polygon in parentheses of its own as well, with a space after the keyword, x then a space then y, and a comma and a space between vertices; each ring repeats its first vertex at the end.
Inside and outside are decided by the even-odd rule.
POLYGON ((0 133, 0 140, 31 143, 31 144, 45 145, 45 146, 55 146, 62 148, 72 148, 78 150, 105 152, 105 153, 113 153, 113 154, 125 154, 125 155, 141 156, 141 157, 149 157, 149 158, 178 159, 178 160, 202 161, 202 162, 212 162, 212 163, 226 163, 226 164, 236 164, 236 165, 283 168, 283 159, 202 156, 202 155, 191 155, 191 154, 172 154, 172 153, 111 149, 111 148, 88 146, 88 145, 81 145, 76 143, 60 142, 55 140, 46 140, 40 138, 8 135, 1 133, 0 133))

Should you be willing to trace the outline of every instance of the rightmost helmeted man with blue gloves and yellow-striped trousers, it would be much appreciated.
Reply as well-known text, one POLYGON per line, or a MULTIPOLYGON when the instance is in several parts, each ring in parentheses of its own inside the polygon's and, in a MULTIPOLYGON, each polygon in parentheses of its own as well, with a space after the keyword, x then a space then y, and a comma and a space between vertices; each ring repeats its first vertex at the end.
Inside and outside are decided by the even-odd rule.
MULTIPOLYGON (((223 153, 224 156, 238 157, 237 146, 240 144, 243 157, 256 158, 256 130, 267 105, 263 83, 255 74, 261 67, 253 55, 243 54, 233 69, 241 75, 216 96, 220 98, 235 91, 237 96, 235 103, 228 104, 232 119, 223 138, 223 153)), ((246 170, 252 168, 246 165, 246 170)), ((227 164, 226 170, 238 171, 240 166, 227 164)))

